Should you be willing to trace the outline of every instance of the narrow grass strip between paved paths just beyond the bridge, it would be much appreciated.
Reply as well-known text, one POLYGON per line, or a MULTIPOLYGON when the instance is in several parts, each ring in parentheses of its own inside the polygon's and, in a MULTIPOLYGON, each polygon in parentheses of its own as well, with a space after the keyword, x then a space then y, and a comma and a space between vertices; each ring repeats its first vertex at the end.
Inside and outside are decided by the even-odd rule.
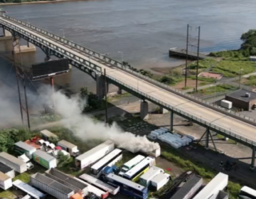
POLYGON ((236 90, 237 87, 234 87, 233 85, 215 85, 212 87, 207 87, 205 89, 202 90, 198 90, 198 92, 193 91, 193 92, 188 92, 189 94, 201 94, 201 95, 212 95, 214 93, 218 93, 218 92, 225 92, 228 90, 236 90))

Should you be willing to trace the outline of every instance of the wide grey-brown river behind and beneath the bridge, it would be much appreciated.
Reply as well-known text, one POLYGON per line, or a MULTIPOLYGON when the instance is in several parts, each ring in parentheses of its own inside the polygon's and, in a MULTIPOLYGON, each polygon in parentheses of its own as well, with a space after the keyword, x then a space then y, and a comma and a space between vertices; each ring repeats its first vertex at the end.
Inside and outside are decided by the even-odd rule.
MULTIPOLYGON (((168 50, 185 48, 188 23, 192 44, 196 44, 196 27, 201 26, 201 52, 207 53, 239 48, 241 34, 255 28, 256 18, 255 0, 99 0, 3 7, 10 16, 60 36, 64 33, 65 38, 110 53, 112 58, 122 60, 123 53, 132 66, 146 69, 183 63, 169 58, 168 50)), ((8 85, 15 80, 12 63, 6 60, 11 56, 11 42, 1 41, 0 51, 0 80, 8 85)), ((28 67, 44 58, 40 49, 23 53, 28 67)), ((56 77, 55 83, 73 91, 82 86, 95 91, 94 80, 76 68, 56 77)))

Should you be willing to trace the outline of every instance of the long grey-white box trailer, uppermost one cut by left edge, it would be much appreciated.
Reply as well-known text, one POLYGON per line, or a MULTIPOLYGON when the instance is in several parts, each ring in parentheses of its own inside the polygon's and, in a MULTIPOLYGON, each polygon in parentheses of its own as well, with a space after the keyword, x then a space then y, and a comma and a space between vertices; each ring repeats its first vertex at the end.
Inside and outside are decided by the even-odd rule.
POLYGON ((26 163, 24 163, 23 161, 14 156, 11 156, 10 154, 7 154, 6 152, 0 153, 0 162, 13 168, 14 171, 18 173, 23 173, 27 171, 26 163))

